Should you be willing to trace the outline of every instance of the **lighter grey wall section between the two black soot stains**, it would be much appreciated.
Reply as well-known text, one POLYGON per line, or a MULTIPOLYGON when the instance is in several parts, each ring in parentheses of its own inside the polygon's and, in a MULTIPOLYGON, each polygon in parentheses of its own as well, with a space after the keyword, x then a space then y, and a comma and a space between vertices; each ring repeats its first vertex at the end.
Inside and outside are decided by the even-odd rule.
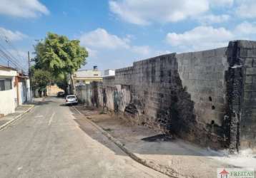
POLYGON ((225 71, 229 67, 226 51, 217 48, 177 55, 182 85, 195 103, 197 130, 201 130, 197 137, 202 145, 223 145, 229 134, 223 127, 227 108, 225 71))

